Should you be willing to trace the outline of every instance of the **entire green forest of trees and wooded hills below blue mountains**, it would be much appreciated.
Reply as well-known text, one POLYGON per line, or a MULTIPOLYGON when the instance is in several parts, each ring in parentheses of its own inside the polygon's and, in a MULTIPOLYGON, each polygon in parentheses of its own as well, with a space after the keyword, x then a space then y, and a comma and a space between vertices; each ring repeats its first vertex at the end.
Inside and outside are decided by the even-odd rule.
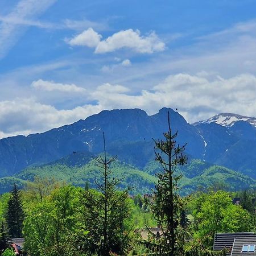
POLYGON ((104 153, 85 166, 56 164, 52 175, 48 166, 22 172, 0 196, 1 255, 15 255, 10 239, 19 237, 31 256, 226 255, 212 250, 217 232, 256 231, 253 180, 247 190, 225 191, 232 179, 245 182, 242 175, 188 162, 176 137, 169 126, 143 172, 106 154, 104 134, 104 153), (189 187, 192 179, 196 187, 189 187))

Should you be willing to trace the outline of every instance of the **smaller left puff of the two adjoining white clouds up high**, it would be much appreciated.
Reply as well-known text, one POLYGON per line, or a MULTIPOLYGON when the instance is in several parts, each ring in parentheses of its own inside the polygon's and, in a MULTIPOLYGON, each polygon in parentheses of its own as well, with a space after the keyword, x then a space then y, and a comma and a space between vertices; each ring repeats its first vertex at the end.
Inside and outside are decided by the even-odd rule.
POLYGON ((75 38, 65 39, 65 42, 71 46, 87 46, 87 47, 97 47, 100 43, 102 36, 95 32, 92 28, 88 28, 79 35, 76 35, 75 38))

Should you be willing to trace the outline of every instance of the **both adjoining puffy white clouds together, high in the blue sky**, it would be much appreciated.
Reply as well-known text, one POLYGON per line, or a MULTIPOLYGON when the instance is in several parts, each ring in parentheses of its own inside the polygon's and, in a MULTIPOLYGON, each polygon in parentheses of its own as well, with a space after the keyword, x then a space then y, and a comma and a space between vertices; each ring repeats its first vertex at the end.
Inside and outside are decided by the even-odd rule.
POLYGON ((71 46, 95 47, 95 53, 114 52, 121 48, 130 48, 139 53, 153 53, 164 51, 165 44, 158 38, 155 32, 147 36, 141 36, 139 30, 121 30, 105 40, 93 28, 88 28, 72 39, 65 39, 71 46))

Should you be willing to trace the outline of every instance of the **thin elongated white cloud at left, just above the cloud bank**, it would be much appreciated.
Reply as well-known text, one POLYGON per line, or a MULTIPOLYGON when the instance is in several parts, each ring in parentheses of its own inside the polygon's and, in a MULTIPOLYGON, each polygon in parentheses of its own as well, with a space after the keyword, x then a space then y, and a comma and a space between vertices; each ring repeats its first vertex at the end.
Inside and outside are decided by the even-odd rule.
POLYGON ((44 81, 39 79, 33 81, 31 86, 35 89, 46 90, 48 92, 59 91, 59 92, 68 92, 68 93, 84 93, 86 92, 85 88, 81 88, 75 84, 61 84, 53 81, 44 81))

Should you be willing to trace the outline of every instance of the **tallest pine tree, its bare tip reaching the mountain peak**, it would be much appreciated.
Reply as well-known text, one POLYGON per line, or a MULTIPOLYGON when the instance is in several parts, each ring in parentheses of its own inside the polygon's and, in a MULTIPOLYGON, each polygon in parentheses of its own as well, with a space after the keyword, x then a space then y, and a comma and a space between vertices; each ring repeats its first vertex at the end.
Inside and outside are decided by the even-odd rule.
POLYGON ((175 170, 178 164, 187 163, 187 156, 183 155, 185 145, 176 146, 177 132, 172 133, 169 112, 168 131, 163 135, 164 140, 154 140, 155 159, 163 170, 156 174, 158 183, 155 185, 151 204, 152 214, 162 229, 162 235, 155 244, 152 243, 152 250, 158 255, 183 255, 180 246, 184 244, 185 238, 181 235, 183 232, 180 224, 186 199, 177 193, 177 182, 181 175, 175 175, 175 170))

